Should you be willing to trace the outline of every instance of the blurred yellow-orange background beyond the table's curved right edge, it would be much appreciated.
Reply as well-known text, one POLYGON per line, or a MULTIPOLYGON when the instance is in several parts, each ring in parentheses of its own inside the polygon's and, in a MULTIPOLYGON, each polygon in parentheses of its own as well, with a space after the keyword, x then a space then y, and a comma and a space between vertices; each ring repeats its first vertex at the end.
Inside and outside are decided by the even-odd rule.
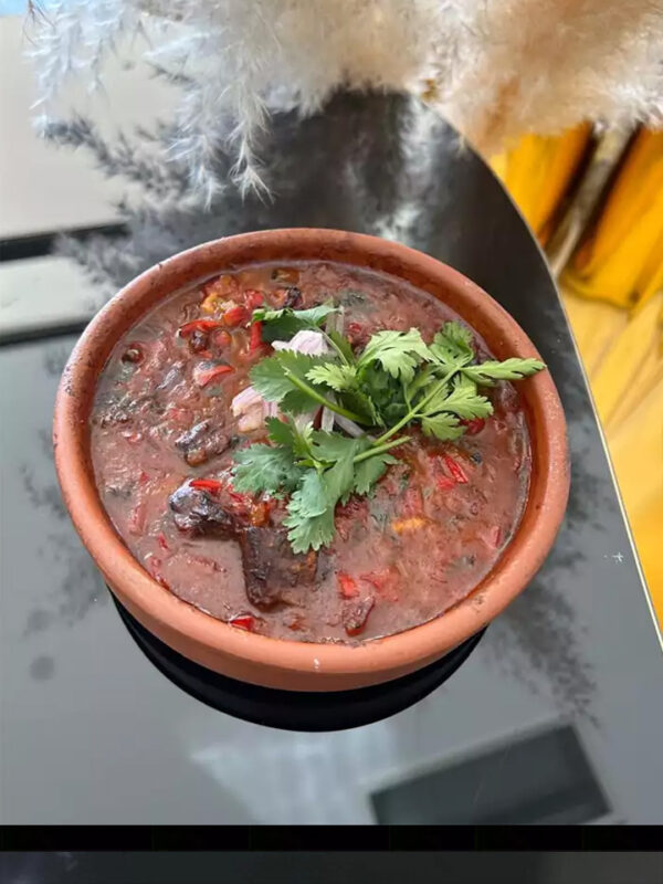
POLYGON ((639 129, 611 166, 585 125, 524 136, 492 166, 544 249, 557 232, 551 265, 663 627, 663 131, 639 129), (591 175, 601 187, 588 213, 591 175))

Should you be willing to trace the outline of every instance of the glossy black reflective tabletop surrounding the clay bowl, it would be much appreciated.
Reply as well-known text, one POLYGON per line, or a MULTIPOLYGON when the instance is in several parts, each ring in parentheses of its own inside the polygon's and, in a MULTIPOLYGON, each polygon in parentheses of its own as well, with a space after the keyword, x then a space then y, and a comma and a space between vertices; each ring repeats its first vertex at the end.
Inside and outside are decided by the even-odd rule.
MULTIPOLYGON (((663 656, 606 448, 544 257, 490 169, 400 96, 278 117, 273 201, 225 197, 200 240, 330 227, 461 270, 560 391, 569 508, 532 586, 425 699, 356 729, 238 720, 143 655, 60 499, 53 397, 74 337, 0 349, 1 809, 6 823, 663 822, 663 656)), ((191 242, 182 213, 171 251, 191 242)), ((200 225, 197 228, 200 230, 200 225)), ((162 257, 143 238, 144 263, 162 257)), ((56 293, 54 293, 55 295, 56 293)))

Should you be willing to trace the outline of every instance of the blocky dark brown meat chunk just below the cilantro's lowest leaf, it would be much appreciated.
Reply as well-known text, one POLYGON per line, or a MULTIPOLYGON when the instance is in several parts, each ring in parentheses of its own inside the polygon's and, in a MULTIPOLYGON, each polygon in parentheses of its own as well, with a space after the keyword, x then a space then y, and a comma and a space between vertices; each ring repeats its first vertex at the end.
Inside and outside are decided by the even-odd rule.
POLYGON ((257 608, 284 600, 284 590, 315 580, 315 552, 293 552, 285 528, 248 528, 240 538, 246 596, 257 608))

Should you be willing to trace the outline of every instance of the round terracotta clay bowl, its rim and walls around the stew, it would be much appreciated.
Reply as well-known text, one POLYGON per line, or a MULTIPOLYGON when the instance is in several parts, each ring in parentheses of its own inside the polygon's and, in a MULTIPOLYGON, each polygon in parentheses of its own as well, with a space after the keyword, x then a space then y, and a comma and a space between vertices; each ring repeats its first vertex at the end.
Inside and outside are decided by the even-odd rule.
POLYGON ((267 230, 190 249, 146 271, 91 322, 64 370, 55 403, 57 475, 73 523, 120 603, 147 630, 223 675, 290 691, 347 691, 398 678, 433 663, 483 629, 540 568, 564 517, 569 490, 566 422, 552 379, 518 385, 533 449, 529 498, 520 525, 492 571, 463 601, 414 629, 359 646, 283 641, 233 629, 173 596, 136 561, 101 503, 88 419, 97 379, 116 341, 161 298, 224 270, 265 261, 322 260, 382 271, 443 301, 498 359, 538 354, 517 323, 457 271, 394 242, 335 230, 267 230))

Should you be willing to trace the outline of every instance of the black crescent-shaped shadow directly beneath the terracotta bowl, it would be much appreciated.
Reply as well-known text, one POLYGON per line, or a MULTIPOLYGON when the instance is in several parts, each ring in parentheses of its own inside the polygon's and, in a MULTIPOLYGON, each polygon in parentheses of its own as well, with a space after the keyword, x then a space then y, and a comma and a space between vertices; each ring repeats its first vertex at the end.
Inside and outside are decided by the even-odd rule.
POLYGON ((402 712, 453 675, 485 632, 477 632, 430 666, 387 684, 320 693, 276 691, 238 682, 192 663, 148 632, 113 598, 136 644, 178 687, 219 712, 284 730, 344 730, 402 712))

